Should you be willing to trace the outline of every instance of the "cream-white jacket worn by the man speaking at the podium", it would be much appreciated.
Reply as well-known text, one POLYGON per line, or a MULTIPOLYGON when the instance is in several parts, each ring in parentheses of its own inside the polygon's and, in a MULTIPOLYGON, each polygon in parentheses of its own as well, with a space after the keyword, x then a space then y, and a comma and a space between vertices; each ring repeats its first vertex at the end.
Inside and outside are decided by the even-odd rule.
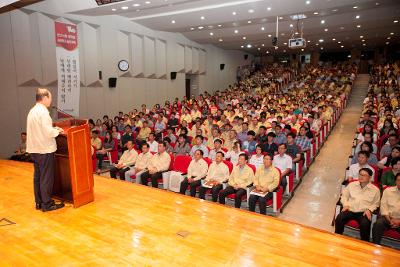
POLYGON ((53 127, 48 109, 41 103, 31 108, 26 126, 26 152, 47 154, 57 150, 55 137, 59 132, 53 127))

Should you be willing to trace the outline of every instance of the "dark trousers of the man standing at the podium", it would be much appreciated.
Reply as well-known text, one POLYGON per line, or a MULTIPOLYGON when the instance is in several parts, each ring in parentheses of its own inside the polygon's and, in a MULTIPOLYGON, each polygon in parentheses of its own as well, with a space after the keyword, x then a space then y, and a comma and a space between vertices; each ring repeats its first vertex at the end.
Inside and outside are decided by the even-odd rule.
POLYGON ((42 208, 52 205, 51 194, 54 185, 54 153, 31 154, 33 160, 33 189, 35 192, 36 204, 41 204, 42 208))

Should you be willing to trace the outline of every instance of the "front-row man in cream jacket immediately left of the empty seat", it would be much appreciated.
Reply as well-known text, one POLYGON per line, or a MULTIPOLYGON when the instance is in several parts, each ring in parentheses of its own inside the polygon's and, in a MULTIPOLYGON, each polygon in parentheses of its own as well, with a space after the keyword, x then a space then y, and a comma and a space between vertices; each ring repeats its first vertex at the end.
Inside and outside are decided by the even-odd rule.
POLYGON ((162 178, 162 173, 169 169, 171 163, 170 155, 165 151, 165 142, 158 144, 158 153, 153 155, 147 171, 142 173, 142 185, 147 185, 148 178, 151 178, 151 185, 153 187, 158 187, 158 179, 162 178))

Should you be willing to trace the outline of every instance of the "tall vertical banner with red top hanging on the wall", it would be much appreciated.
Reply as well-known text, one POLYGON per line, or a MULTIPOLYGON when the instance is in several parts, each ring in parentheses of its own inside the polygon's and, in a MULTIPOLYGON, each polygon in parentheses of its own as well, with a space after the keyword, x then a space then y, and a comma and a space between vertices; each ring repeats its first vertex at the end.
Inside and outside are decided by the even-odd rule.
POLYGON ((58 108, 79 116, 80 76, 78 29, 74 24, 55 22, 58 73, 58 108))

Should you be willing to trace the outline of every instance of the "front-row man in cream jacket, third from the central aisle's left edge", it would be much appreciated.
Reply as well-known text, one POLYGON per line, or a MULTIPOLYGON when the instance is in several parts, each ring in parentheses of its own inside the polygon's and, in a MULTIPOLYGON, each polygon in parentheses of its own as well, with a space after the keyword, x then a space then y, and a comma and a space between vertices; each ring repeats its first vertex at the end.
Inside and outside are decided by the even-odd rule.
MULTIPOLYGON (((211 188, 211 196, 212 201, 217 202, 218 194, 222 190, 223 186, 222 183, 227 181, 229 178, 229 168, 223 162, 224 160, 224 153, 217 152, 215 156, 215 161, 211 163, 210 167, 208 168, 206 179, 204 180, 205 183, 212 184, 211 188)), ((200 187, 199 190, 199 197, 201 199, 205 199, 207 187, 200 187)))

